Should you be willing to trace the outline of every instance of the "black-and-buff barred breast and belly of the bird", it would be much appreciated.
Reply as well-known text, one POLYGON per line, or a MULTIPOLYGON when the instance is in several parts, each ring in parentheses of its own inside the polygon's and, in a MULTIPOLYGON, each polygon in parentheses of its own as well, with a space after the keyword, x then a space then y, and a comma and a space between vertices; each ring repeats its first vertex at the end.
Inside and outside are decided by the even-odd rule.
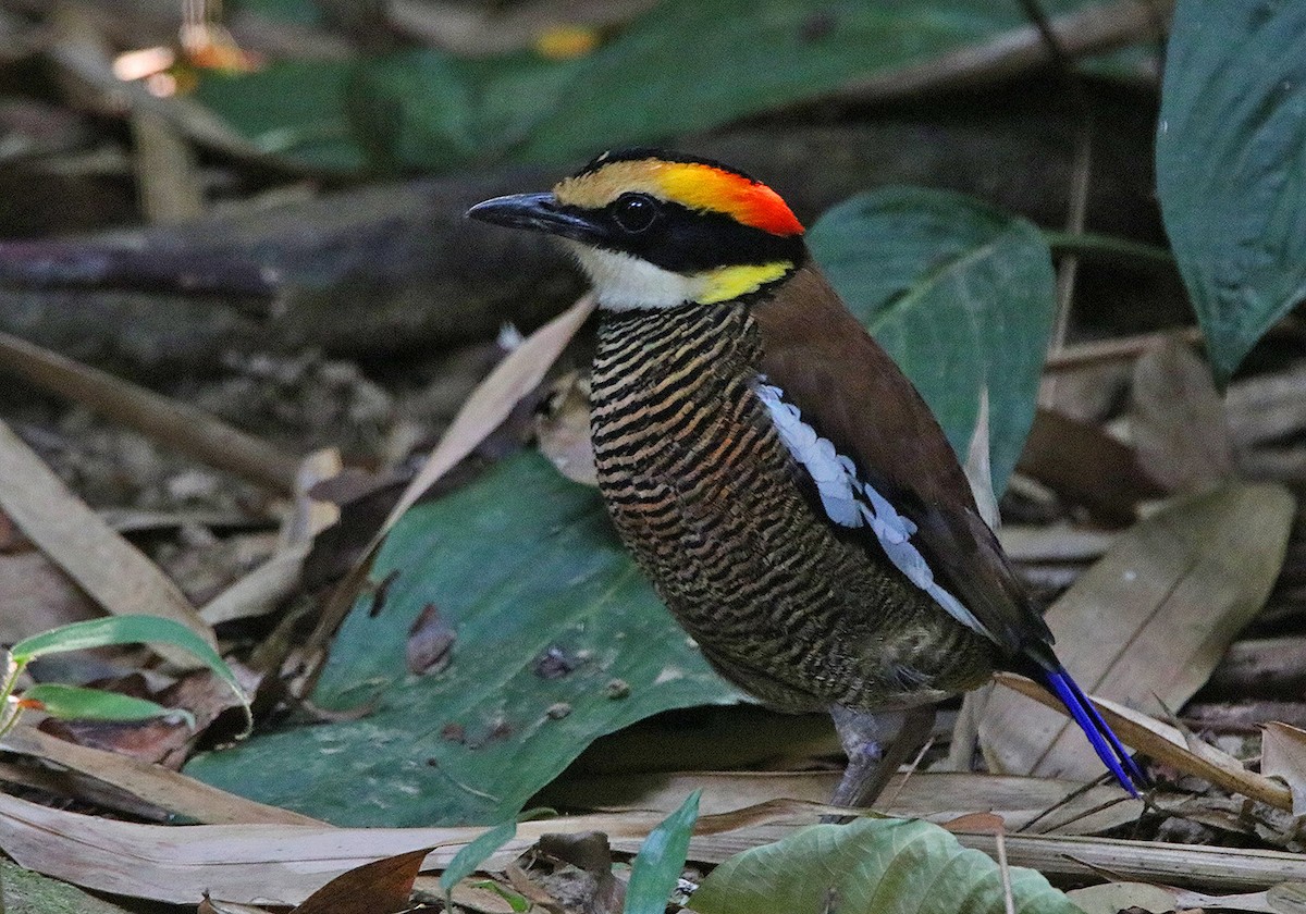
POLYGON ((815 513, 756 396, 759 346, 738 302, 603 313, 592 433, 623 542, 713 666, 771 705, 974 687, 978 636, 815 513))

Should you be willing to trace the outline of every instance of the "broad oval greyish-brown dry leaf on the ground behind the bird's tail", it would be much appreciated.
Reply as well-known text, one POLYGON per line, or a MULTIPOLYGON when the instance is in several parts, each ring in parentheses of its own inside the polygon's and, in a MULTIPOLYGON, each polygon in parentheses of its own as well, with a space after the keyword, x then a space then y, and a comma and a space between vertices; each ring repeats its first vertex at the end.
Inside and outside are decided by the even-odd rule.
MULTIPOLYGON (((1047 612, 1067 670, 1085 692, 1130 708, 1182 706, 1269 594, 1293 511, 1281 486, 1233 483, 1122 534, 1047 612)), ((1011 693, 994 693, 980 740, 994 770, 1085 781, 1102 772, 1074 723, 1011 693)))

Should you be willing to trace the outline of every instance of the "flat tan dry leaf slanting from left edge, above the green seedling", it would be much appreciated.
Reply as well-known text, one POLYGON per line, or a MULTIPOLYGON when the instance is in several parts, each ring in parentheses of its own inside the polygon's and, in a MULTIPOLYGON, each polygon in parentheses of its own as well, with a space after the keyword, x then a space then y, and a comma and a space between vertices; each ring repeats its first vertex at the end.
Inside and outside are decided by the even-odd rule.
MULTIPOLYGON (((172 619, 217 649, 213 629, 180 589, 73 495, 3 422, 0 479, 0 508, 104 610, 172 619)), ((184 669, 197 665, 179 648, 151 648, 184 669)))

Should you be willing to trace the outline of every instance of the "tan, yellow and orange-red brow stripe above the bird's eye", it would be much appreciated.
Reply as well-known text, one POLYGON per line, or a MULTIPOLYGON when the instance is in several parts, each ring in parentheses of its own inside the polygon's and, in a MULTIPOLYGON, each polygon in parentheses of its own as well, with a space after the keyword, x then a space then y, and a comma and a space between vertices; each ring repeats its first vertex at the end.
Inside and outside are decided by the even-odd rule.
POLYGON ((660 158, 657 153, 631 155, 601 155, 580 174, 563 179, 554 193, 562 204, 599 209, 633 191, 693 210, 722 213, 773 235, 803 232, 780 195, 747 175, 714 162, 660 158))

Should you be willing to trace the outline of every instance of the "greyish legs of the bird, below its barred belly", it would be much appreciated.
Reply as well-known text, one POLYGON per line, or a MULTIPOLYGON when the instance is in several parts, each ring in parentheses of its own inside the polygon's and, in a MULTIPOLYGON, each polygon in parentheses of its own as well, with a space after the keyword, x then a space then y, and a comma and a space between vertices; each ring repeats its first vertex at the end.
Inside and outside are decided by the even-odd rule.
POLYGON ((848 768, 831 804, 850 810, 874 803, 899 766, 925 744, 934 729, 932 704, 878 714, 833 705, 831 717, 848 753, 848 768))

